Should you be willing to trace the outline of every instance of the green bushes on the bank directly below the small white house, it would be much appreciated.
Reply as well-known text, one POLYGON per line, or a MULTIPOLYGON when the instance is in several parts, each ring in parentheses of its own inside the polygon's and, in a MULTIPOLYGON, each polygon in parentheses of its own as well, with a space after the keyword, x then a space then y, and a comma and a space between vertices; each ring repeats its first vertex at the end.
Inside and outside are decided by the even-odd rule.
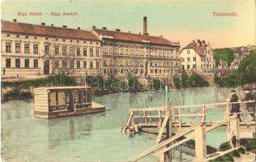
POLYGON ((182 80, 180 79, 180 77, 174 76, 174 84, 176 87, 181 87, 181 83, 182 83, 182 87, 207 87, 207 86, 209 86, 209 83, 205 79, 203 79, 202 76, 200 76, 194 72, 189 76, 186 74, 186 71, 183 70, 181 72, 181 77, 182 77, 182 80))

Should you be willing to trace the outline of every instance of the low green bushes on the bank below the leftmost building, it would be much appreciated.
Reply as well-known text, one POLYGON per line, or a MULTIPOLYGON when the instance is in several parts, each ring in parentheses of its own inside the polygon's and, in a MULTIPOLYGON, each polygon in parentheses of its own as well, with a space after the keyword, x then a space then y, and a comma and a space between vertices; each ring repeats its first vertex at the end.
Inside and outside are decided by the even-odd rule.
POLYGON ((66 75, 50 75, 44 79, 35 79, 20 82, 2 82, 2 87, 49 87, 49 86, 75 86, 76 82, 70 76, 66 75))

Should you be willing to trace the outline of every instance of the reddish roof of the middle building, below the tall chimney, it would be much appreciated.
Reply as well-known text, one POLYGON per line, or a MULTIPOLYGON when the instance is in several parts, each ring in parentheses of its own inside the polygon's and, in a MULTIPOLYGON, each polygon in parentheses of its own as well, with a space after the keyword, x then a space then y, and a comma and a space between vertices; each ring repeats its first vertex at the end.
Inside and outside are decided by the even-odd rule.
POLYGON ((148 36, 143 34, 134 34, 130 32, 117 32, 105 29, 93 29, 98 36, 112 36, 115 40, 133 41, 133 42, 144 42, 155 45, 174 45, 180 46, 179 43, 167 40, 161 36, 148 36))

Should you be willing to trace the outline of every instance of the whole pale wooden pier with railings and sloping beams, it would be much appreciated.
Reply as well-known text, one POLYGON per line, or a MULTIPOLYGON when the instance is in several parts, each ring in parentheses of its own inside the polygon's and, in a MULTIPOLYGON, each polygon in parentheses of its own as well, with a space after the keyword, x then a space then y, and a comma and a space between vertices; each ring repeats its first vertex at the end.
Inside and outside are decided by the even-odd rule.
POLYGON ((171 161, 171 150, 192 139, 195 141, 194 161, 214 160, 230 151, 237 150, 241 148, 239 143, 241 130, 243 130, 242 132, 248 130, 248 137, 255 135, 255 121, 240 121, 237 115, 250 116, 250 114, 254 112, 242 110, 240 113, 231 114, 230 108, 231 104, 241 104, 241 106, 245 106, 245 104, 248 103, 255 103, 255 101, 183 106, 169 105, 163 107, 130 109, 130 115, 123 126, 123 132, 126 132, 130 126, 137 126, 143 131, 157 134, 156 145, 149 148, 147 151, 143 151, 139 156, 135 156, 130 161, 138 161, 153 152, 156 153, 160 162, 171 161), (193 109, 194 111, 191 113, 183 113, 185 109, 193 109), (216 109, 216 111, 223 114, 223 117, 219 121, 208 121, 207 109, 216 109), (188 122, 186 117, 193 117, 193 120, 188 122), (228 140, 232 147, 227 151, 217 151, 214 154, 207 155, 206 134, 220 126, 227 127, 228 140), (236 144, 233 143, 234 137, 236 138, 236 144))

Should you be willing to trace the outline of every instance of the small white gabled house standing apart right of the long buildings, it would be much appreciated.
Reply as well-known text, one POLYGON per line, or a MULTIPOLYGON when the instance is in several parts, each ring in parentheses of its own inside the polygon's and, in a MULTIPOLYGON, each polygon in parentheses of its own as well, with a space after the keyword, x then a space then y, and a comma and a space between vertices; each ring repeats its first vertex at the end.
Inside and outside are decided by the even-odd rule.
POLYGON ((181 49, 181 66, 183 70, 211 72, 215 68, 214 54, 205 40, 193 40, 181 49))

